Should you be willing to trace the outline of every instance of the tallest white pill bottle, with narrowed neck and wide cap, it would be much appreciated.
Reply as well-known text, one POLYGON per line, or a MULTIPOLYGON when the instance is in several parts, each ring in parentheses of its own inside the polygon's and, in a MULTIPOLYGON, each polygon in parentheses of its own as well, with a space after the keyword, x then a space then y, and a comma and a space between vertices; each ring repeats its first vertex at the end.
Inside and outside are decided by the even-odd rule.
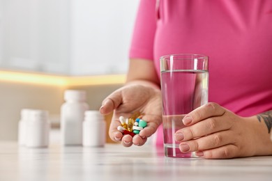
POLYGON ((61 145, 82 145, 82 122, 89 109, 86 92, 66 90, 61 105, 61 145))

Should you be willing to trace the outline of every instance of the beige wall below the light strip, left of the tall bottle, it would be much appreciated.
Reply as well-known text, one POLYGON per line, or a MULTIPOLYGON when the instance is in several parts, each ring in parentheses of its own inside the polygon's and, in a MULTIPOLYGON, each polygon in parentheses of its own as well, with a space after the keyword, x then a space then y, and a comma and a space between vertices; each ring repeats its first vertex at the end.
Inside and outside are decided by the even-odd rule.
POLYGON ((0 90, 0 140, 17 140, 21 109, 45 109, 52 118, 59 116, 61 86, 0 81, 0 90))

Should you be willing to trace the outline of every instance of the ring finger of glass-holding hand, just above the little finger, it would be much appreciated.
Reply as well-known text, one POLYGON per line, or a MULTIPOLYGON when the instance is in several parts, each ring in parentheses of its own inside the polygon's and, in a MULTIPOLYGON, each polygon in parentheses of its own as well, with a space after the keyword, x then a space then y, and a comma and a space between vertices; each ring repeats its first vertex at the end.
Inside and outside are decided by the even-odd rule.
POLYGON ((233 143, 233 138, 229 135, 231 135, 229 131, 217 132, 199 139, 182 142, 179 145, 179 149, 181 152, 196 152, 199 150, 210 150, 223 145, 229 145, 230 143, 233 143))

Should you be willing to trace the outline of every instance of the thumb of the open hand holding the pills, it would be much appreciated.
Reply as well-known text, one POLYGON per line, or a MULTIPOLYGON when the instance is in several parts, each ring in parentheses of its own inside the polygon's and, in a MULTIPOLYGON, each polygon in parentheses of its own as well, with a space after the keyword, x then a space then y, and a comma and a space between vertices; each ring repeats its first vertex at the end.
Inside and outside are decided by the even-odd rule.
POLYGON ((122 102, 122 97, 119 91, 116 91, 109 95, 102 102, 102 106, 100 107, 100 113, 107 114, 111 113, 114 109, 119 107, 122 102))

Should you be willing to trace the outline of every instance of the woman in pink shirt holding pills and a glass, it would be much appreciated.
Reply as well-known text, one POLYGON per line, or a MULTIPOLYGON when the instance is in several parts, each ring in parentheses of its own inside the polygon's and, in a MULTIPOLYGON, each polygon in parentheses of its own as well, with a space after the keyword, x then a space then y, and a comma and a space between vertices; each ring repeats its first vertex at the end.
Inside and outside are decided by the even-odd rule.
POLYGON ((181 152, 206 159, 272 155, 271 22, 269 0, 140 1, 126 85, 100 108, 103 114, 114 111, 110 138, 143 145, 157 131, 162 144, 159 58, 204 54, 209 104, 183 119, 187 127, 175 134, 181 152), (148 127, 123 136, 116 129, 119 116, 135 111, 144 113, 148 127))

